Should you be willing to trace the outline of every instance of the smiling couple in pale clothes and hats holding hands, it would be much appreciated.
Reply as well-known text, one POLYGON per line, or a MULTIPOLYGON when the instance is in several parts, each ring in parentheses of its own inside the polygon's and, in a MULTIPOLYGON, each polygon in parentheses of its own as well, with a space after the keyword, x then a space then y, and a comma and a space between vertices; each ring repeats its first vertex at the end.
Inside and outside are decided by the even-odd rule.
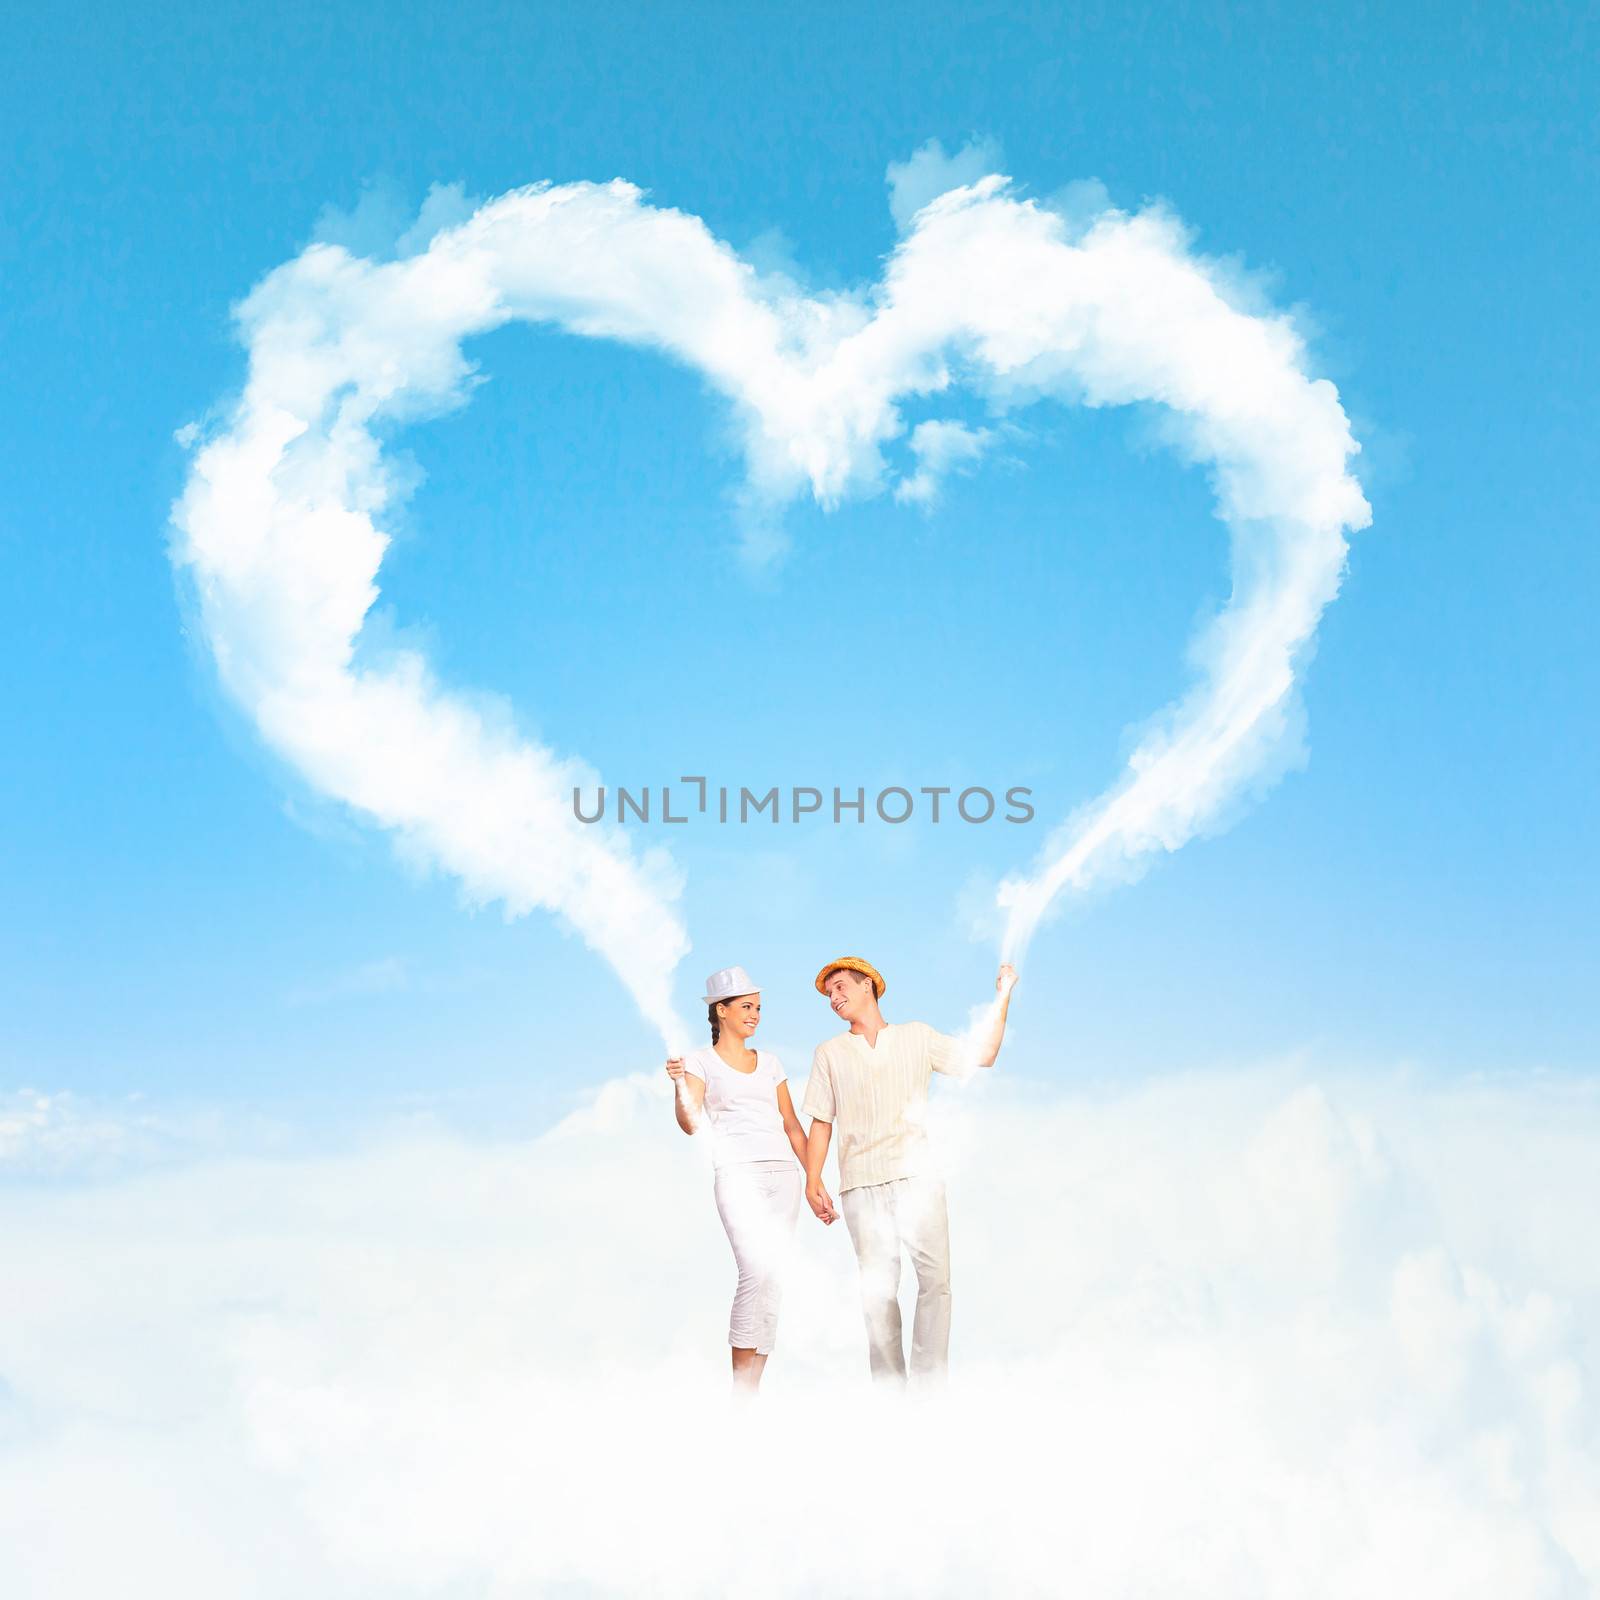
POLYGON ((901 1251, 917 1269, 910 1378, 936 1384, 950 1344, 950 1242, 944 1184, 933 1171, 926 1136, 928 1083, 934 1072, 990 1067, 1005 1038, 1016 971, 1002 966, 986 1037, 965 1046, 926 1022, 886 1022, 878 1002, 883 974, 842 955, 816 974, 818 992, 848 1026, 816 1046, 802 1112, 789 1096, 782 1062, 752 1050, 762 992, 742 966, 706 981, 710 1045, 667 1062, 677 1085, 678 1126, 709 1138, 717 1211, 739 1282, 728 1344, 733 1384, 750 1394, 778 1334, 782 1267, 800 1213, 800 1192, 818 1219, 840 1214, 861 1267, 872 1376, 906 1382, 901 1338, 901 1251), (838 1134, 838 1206, 822 1186, 822 1165, 838 1134))

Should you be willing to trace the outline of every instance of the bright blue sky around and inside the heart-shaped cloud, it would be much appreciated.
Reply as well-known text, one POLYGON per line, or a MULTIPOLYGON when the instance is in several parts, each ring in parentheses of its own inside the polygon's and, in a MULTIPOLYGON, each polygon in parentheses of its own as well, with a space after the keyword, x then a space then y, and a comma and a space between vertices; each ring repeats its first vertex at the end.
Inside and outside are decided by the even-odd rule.
MULTIPOLYGON (((403 227, 435 182, 626 176, 848 286, 894 240, 888 163, 974 136, 1032 194, 1165 197, 1304 307, 1374 510, 1306 682, 1309 766, 1045 930, 1008 1064, 1594 1064, 1576 10, 211 6, 6 34, 0 1088, 544 1104, 653 1064, 581 942, 462 909, 262 754, 184 635, 173 432, 237 389, 230 304, 328 208, 403 227)), ((1021 782, 1030 846, 1112 779, 1226 594, 1205 485, 1141 418, 1027 413, 931 515, 797 507, 752 578, 694 378, 526 328, 472 354, 472 405, 405 435, 427 477, 382 603, 446 682, 614 781, 1021 782)), ((840 950, 890 973, 891 1014, 958 1022, 992 970, 962 899, 1030 853, 995 829, 670 843, 685 1003, 742 962, 792 1069, 840 950)))

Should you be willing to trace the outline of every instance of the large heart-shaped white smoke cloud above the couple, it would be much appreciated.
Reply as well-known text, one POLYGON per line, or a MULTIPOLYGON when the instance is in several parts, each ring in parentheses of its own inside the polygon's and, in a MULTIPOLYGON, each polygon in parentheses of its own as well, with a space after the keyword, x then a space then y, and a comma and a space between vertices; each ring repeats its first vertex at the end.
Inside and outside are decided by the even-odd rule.
MULTIPOLYGON (((357 661, 389 544, 381 520, 405 493, 378 429, 466 398, 466 338, 549 322, 698 370, 736 410, 752 526, 803 493, 834 507, 890 488, 883 446, 906 432, 907 397, 962 386, 997 410, 1168 410, 1174 446, 1211 474, 1234 592, 1190 648, 1194 686, 1125 776, 1053 835, 1030 877, 1002 885, 1011 955, 1064 888, 1176 850, 1270 770, 1346 531, 1370 515, 1338 394, 1307 376, 1285 317, 1234 304, 1158 208, 1074 222, 1002 176, 917 210, 882 282, 859 294, 763 277, 630 184, 541 184, 408 259, 312 245, 237 315, 250 376, 173 514, 173 555, 194 576, 222 683, 309 782, 475 898, 563 915, 674 1045, 686 1037, 670 986, 688 939, 670 862, 578 824, 566 800, 592 774, 493 725, 416 651, 357 661)), ((896 493, 933 498, 987 437, 922 422, 917 470, 896 493)))

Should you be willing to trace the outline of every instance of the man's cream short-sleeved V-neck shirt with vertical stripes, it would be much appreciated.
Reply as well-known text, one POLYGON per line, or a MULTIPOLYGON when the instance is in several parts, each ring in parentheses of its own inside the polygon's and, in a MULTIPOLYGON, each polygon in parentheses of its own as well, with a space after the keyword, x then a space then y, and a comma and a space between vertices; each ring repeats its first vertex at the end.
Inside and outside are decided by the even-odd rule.
POLYGON ((955 1072, 955 1040, 926 1022, 886 1022, 869 1045, 837 1034, 816 1046, 805 1114, 834 1125, 838 1192, 933 1170, 931 1072, 955 1072))

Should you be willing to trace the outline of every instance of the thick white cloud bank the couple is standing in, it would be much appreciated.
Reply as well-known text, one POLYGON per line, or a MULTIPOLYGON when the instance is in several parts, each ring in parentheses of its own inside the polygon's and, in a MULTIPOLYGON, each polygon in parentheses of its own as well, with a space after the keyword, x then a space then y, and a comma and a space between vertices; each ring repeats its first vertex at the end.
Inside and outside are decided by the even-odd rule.
POLYGON ((731 1259, 659 1074, 538 1139, 0 1190, 13 1586, 1600 1586, 1592 1086, 1002 1075, 936 1109, 925 1410, 870 1403, 848 1240, 802 1218, 768 1392, 730 1414, 731 1259))

